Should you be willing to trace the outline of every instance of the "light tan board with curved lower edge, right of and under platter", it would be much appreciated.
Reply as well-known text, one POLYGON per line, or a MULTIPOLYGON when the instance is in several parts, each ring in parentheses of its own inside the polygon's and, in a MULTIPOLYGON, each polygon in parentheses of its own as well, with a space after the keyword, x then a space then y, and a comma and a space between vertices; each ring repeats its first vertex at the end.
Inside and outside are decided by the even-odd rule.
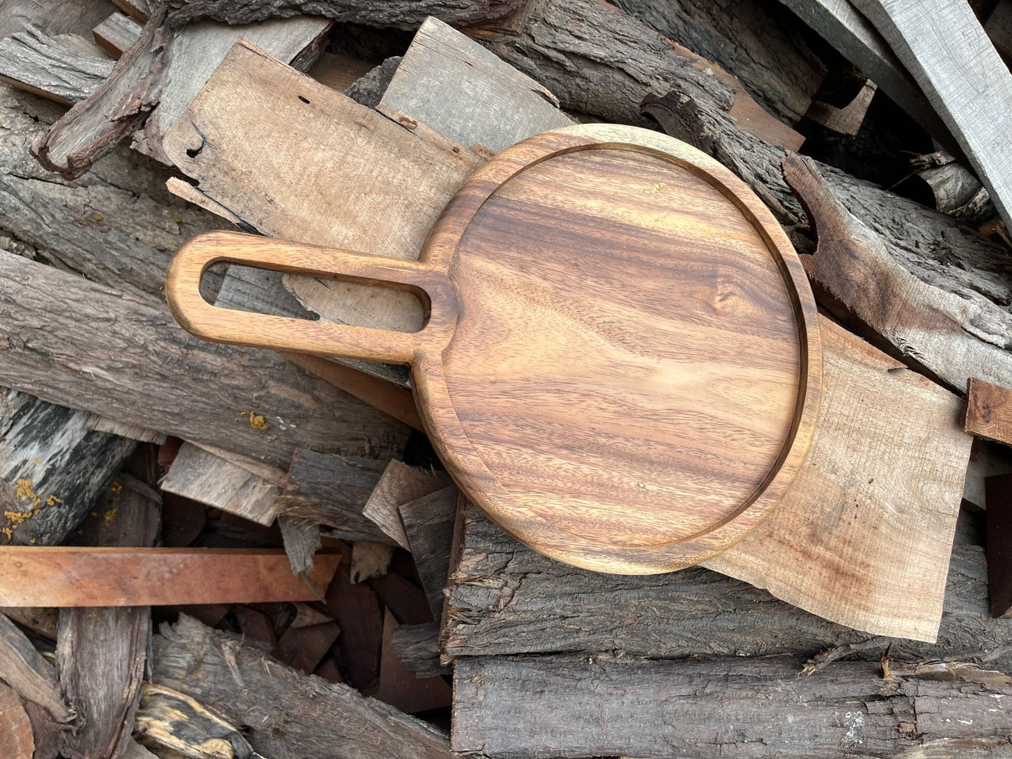
POLYGON ((829 320, 822 334, 805 467, 765 522, 704 566, 841 624, 933 642, 973 441, 960 401, 829 320))

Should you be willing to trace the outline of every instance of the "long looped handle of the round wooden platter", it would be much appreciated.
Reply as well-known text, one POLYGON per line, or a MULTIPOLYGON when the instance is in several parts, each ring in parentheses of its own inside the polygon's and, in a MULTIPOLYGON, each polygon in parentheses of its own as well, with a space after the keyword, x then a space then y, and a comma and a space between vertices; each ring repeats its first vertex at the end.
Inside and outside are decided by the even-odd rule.
POLYGON ((431 264, 239 232, 208 232, 186 242, 169 265, 165 294, 176 321, 205 340, 388 363, 410 364, 433 338, 448 338, 456 321, 449 278, 431 264), (218 308, 203 300, 199 288, 207 267, 221 262, 408 290, 425 307, 425 326, 394 332, 218 308))

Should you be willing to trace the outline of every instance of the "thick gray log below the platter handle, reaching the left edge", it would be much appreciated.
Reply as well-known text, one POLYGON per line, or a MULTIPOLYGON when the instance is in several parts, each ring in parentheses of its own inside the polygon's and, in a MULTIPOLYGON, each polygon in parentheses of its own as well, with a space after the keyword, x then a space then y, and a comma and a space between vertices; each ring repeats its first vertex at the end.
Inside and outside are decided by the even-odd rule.
POLYGON ((0 252, 0 383, 287 468, 390 456, 407 428, 276 353, 198 340, 168 307, 0 252))

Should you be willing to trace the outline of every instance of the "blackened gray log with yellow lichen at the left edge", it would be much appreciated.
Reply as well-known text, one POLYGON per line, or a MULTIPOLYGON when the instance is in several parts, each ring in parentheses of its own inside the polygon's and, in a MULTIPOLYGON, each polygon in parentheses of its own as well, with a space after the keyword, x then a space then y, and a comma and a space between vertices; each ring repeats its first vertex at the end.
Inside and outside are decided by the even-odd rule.
POLYGON ((55 545, 94 507, 137 441, 95 416, 0 391, 0 542, 55 545))

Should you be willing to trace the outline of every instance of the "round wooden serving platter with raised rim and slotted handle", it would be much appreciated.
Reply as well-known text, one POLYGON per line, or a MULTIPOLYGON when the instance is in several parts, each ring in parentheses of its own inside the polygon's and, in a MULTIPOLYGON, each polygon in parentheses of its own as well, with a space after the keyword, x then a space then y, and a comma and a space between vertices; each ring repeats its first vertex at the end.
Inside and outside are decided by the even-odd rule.
POLYGON ((216 232, 179 250, 166 291, 208 340, 410 364, 461 490, 587 569, 668 572, 734 544, 815 431, 819 318, 796 253, 728 169, 647 130, 576 125, 503 151, 419 261, 216 232), (405 333, 215 308, 198 285, 221 261, 407 289, 427 320, 405 333))

